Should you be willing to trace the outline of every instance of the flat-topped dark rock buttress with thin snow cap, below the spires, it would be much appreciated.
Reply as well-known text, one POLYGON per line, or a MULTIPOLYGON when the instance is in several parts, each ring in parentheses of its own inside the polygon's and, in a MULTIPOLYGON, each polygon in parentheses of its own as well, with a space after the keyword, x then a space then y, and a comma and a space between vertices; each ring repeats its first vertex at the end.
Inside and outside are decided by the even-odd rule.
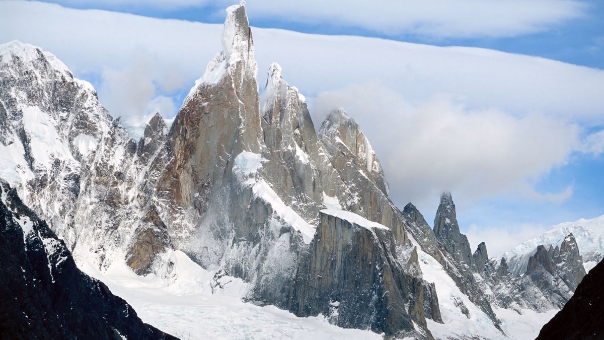
POLYGON ((433 290, 423 292, 422 280, 405 274, 391 230, 344 211, 321 211, 320 220, 308 258, 298 266, 289 310, 387 336, 420 336, 416 322, 417 331, 432 338, 423 298, 433 290))

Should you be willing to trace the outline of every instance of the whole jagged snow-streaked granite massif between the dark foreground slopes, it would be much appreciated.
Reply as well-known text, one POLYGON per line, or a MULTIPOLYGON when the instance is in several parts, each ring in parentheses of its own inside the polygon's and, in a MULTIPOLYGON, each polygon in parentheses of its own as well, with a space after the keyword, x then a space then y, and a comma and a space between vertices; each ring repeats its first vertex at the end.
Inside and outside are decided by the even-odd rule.
POLYGON ((578 229, 555 249, 528 244, 513 270, 484 243, 472 252, 449 192, 434 227, 413 204, 394 206, 344 111, 317 133, 278 64, 260 96, 245 6, 228 8, 222 45, 173 123, 155 114, 138 140, 52 54, 0 45, 0 177, 91 275, 126 296, 138 295, 115 268, 133 290, 186 282, 191 299, 233 293, 417 339, 514 336, 508 311, 535 316, 570 298, 585 275, 578 229))

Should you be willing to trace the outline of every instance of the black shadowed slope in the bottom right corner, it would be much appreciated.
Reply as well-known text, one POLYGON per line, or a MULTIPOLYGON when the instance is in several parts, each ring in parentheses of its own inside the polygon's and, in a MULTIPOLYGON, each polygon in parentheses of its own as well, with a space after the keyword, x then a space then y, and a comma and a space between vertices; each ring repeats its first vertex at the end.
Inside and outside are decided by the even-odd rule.
POLYGON ((537 339, 604 339, 604 261, 590 270, 574 295, 547 324, 537 339))

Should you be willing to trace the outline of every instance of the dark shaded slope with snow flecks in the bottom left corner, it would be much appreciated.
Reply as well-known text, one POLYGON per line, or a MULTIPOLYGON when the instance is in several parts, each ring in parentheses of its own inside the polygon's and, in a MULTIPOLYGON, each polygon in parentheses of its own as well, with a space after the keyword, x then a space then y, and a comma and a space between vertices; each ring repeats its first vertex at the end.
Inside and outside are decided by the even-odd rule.
POLYGON ((0 180, 0 337, 176 339, 82 273, 47 224, 0 180))

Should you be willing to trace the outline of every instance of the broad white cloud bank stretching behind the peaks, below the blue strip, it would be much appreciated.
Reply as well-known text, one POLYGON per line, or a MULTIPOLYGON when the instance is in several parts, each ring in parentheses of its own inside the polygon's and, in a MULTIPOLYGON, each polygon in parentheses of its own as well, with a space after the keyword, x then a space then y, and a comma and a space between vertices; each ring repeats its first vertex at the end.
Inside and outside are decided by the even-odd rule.
MULTIPOLYGON (((559 3, 576 4, 547 2, 559 3)), ((95 83, 115 117, 131 123, 156 110, 176 114, 220 50, 221 30, 0 1, 0 42, 19 39, 56 54, 95 83)), ((260 28, 253 34, 259 83, 276 61, 307 97, 317 125, 329 110, 347 110, 381 158, 395 203, 413 201, 428 220, 443 189, 454 192, 458 208, 500 194, 560 203, 573 194, 572 183, 553 192, 536 183, 577 152, 604 151, 603 70, 481 48, 260 28)))

